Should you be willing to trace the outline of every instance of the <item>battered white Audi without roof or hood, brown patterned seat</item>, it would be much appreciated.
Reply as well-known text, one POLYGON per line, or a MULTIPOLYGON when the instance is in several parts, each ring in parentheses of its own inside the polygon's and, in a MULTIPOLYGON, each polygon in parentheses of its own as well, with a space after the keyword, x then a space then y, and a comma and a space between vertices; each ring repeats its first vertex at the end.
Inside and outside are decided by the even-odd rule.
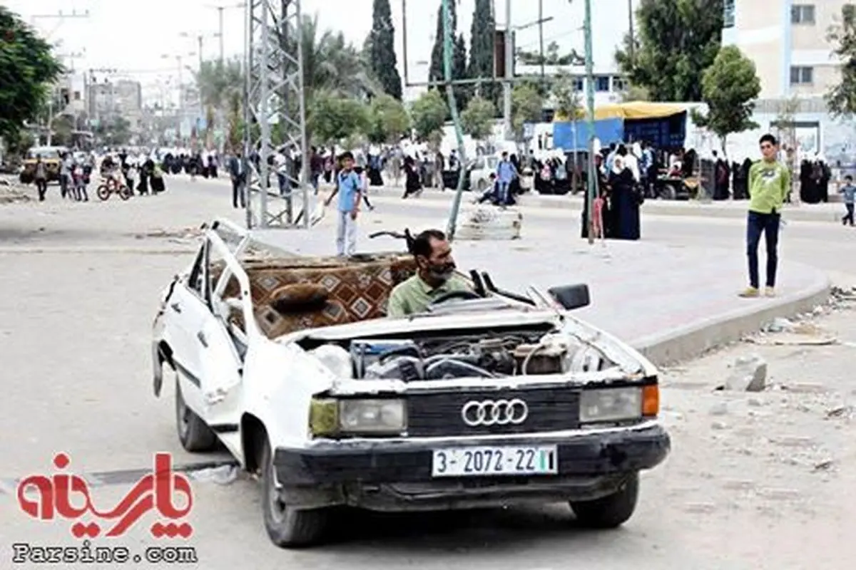
POLYGON ((178 437, 223 444, 262 480, 270 539, 324 538, 331 507, 380 511, 569 502, 588 526, 633 514, 639 471, 669 453, 657 369, 574 318, 586 285, 474 292, 392 319, 407 254, 252 252, 208 226, 154 321, 154 391, 178 437))

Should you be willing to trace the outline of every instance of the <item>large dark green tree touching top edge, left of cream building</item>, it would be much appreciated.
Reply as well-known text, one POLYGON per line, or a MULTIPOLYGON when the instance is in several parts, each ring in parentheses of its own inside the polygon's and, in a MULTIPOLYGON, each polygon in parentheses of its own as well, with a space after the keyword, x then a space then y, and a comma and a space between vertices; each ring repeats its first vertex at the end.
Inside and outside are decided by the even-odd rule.
POLYGON ((702 100, 702 78, 722 44, 722 0, 642 0, 633 57, 630 38, 615 61, 655 101, 702 100))

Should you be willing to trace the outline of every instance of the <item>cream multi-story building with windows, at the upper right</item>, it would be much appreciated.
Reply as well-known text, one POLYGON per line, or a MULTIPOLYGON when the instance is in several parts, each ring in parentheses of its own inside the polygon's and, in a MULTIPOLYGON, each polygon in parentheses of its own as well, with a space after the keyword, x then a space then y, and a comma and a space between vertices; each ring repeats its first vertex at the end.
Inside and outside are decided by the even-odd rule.
POLYGON ((722 43, 755 62, 761 99, 823 97, 840 79, 827 39, 843 0, 725 0, 722 43))

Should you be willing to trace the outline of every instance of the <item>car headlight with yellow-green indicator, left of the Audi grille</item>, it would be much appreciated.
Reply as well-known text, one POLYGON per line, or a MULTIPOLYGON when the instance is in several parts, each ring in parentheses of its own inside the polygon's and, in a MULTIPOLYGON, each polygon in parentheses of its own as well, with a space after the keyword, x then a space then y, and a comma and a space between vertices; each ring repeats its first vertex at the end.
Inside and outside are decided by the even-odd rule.
POLYGON ((314 436, 397 434, 407 429, 404 400, 313 399, 309 409, 309 430, 314 436))

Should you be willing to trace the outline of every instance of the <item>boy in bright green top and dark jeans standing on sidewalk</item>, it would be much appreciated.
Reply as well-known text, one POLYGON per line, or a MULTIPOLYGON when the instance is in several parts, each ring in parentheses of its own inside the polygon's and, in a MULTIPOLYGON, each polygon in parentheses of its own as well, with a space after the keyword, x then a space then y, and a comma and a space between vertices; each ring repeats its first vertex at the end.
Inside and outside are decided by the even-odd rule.
POLYGON ((764 234, 767 250, 767 281, 764 294, 776 294, 776 248, 779 242, 779 225, 782 220, 782 204, 791 188, 788 167, 776 161, 778 141, 771 134, 761 137, 763 158, 749 169, 749 215, 746 220, 746 256, 749 258, 749 287, 740 297, 758 297, 758 242, 764 234))

